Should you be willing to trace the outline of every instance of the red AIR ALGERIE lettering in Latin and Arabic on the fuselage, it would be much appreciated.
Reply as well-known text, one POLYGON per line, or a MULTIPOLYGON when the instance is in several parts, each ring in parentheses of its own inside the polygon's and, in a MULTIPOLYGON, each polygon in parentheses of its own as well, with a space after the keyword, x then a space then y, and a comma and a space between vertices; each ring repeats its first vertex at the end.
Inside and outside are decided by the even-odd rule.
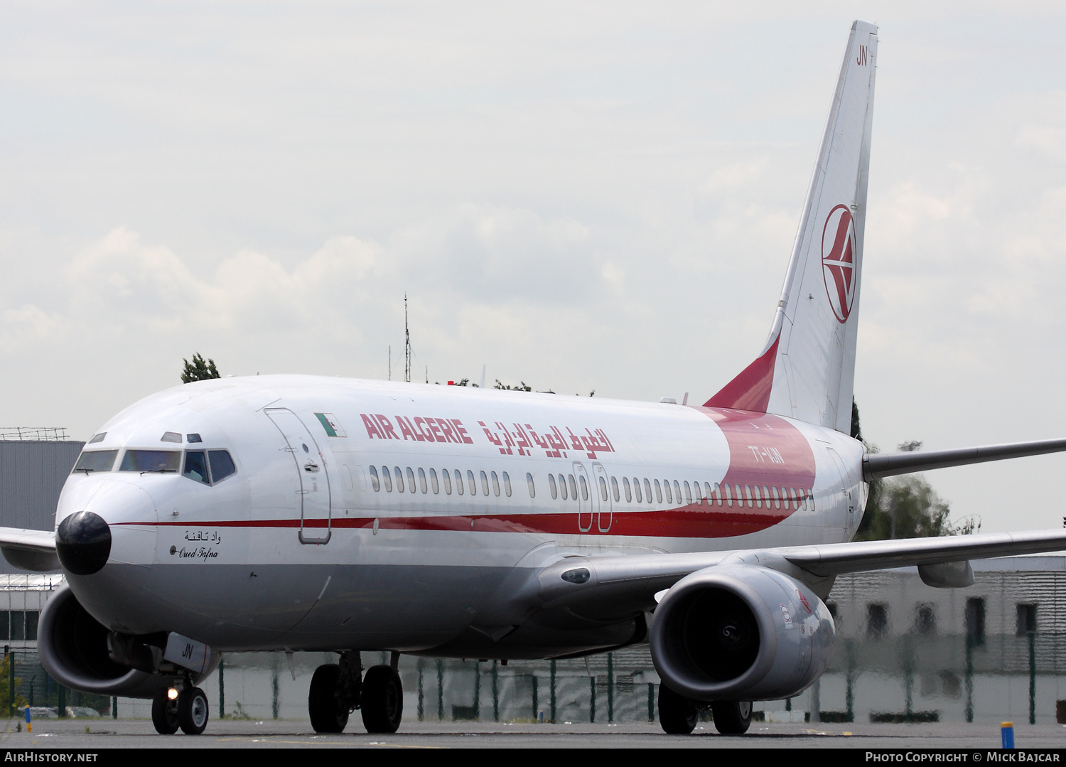
MULTIPOLYGON (((371 440, 474 444, 458 418, 411 418, 397 415, 390 419, 379 413, 360 413, 359 416, 367 429, 367 436, 371 440)), ((478 426, 504 456, 531 456, 536 447, 544 450, 548 458, 566 458, 567 451, 583 452, 589 459, 595 459, 597 452, 614 452, 614 445, 602 429, 579 429, 575 433, 569 427, 549 426, 538 433, 530 424, 513 424, 508 427, 500 421, 480 420, 478 426)))

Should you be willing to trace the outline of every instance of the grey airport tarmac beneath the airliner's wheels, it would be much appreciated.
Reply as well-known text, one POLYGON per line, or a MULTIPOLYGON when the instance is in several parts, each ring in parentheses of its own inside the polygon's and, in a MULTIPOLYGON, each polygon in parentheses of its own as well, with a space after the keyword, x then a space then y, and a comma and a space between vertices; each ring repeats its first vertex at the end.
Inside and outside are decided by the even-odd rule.
MULTIPOLYGON (((351 732, 318 735, 300 720, 212 721, 199 736, 159 735, 138 719, 43 719, 31 733, 3 723, 3 749, 123 748, 843 748, 959 749, 1000 747, 998 724, 773 724, 754 722, 747 735, 718 735, 701 723, 689 736, 665 735, 658 724, 531 724, 496 722, 404 722, 394 735, 368 735, 358 717, 351 732)), ((1066 747, 1066 725, 1019 724, 1019 749, 1066 747)), ((968 761, 975 761, 972 758, 968 761)), ((987 758, 987 757, 986 757, 987 758)))

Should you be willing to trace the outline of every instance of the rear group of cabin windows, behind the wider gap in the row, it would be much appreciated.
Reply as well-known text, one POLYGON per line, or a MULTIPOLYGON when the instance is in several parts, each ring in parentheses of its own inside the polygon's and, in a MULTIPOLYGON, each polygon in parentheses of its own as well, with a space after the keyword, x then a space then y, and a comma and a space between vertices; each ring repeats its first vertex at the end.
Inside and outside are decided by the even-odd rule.
MULTIPOLYGON (((585 478, 583 476, 578 476, 577 483, 575 482, 574 475, 558 475, 559 481, 555 480, 555 475, 548 475, 548 490, 551 492, 552 498, 563 497, 566 500, 568 497, 578 497, 578 488, 581 489, 581 499, 588 499, 588 488, 585 483, 585 478), (569 492, 567 492, 569 489, 569 492)), ((597 483, 599 484, 600 500, 608 499, 608 489, 607 480, 603 477, 597 477, 597 483)), ((632 504, 643 504, 647 501, 652 502, 652 490, 655 486, 655 502, 662 504, 665 498, 667 504, 673 504, 674 499, 677 498, 677 502, 680 504, 682 498, 685 504, 702 505, 708 506, 728 506, 733 507, 736 504, 738 507, 743 507, 745 504, 748 509, 762 509, 765 506, 766 509, 773 508, 781 509, 804 509, 804 510, 814 510, 814 496, 811 495, 809 490, 798 490, 795 488, 781 488, 780 492, 778 489, 769 488, 763 485, 761 492, 759 485, 745 484, 743 491, 739 484, 718 484, 717 482, 711 486, 710 482, 704 482, 702 492, 700 492, 699 482, 693 482, 691 485, 688 481, 678 482, 678 480, 664 479, 660 482, 658 479, 649 480, 645 477, 641 480, 637 477, 633 477, 632 482, 630 482, 629 477, 621 478, 621 488, 619 490, 619 483, 617 477, 611 477, 611 495, 614 496, 615 502, 621 500, 623 494, 626 496, 626 502, 632 504), (642 491, 643 485, 643 491, 642 491), (672 490, 673 486, 673 490, 672 490), (684 495, 682 496, 682 488, 684 495)))

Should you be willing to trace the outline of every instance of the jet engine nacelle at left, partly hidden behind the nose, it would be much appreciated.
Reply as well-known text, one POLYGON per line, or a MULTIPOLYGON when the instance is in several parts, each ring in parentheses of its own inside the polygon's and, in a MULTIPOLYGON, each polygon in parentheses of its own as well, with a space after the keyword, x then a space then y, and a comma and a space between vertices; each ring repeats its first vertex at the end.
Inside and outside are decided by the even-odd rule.
MULTIPOLYGON (((174 683, 173 674, 161 676, 112 660, 109 634, 64 584, 41 612, 41 665, 64 687, 97 694, 152 698, 174 683)), ((194 676, 194 681, 199 678, 194 676)))

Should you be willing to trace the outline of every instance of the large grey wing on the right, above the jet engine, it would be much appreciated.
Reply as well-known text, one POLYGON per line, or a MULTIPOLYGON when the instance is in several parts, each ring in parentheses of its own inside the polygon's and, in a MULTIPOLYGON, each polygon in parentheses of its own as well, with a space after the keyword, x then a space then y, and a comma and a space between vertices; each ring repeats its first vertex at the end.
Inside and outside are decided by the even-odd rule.
POLYGON ((785 572, 811 588, 844 573, 918 565, 930 586, 973 582, 971 559, 1066 550, 1066 530, 941 536, 812 546, 627 557, 566 557, 540 571, 545 608, 610 619, 655 608, 656 595, 691 573, 729 563, 785 572))

